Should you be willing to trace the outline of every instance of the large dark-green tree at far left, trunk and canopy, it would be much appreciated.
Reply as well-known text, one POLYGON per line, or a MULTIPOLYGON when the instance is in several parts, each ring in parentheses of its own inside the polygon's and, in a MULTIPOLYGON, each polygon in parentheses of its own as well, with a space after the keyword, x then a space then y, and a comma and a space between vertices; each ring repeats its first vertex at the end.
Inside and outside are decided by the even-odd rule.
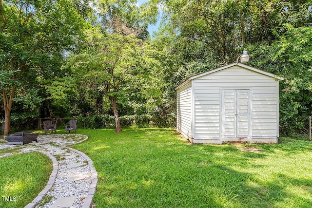
MULTIPOLYGON (((5 111, 4 134, 10 131, 11 110, 17 92, 34 79, 49 74, 55 76, 64 52, 77 44, 76 35, 81 25, 82 21, 69 0, 0 1, 0 89, 5 111)), ((34 95, 37 99, 36 93, 34 95)))

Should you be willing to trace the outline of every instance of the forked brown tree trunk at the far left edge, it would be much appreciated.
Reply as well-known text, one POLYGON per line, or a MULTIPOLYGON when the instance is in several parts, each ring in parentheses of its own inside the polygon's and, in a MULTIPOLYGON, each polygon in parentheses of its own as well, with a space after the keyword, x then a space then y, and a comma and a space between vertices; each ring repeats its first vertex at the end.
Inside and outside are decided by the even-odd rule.
POLYGON ((10 117, 11 117, 11 110, 13 105, 13 98, 15 95, 16 87, 13 87, 11 90, 11 95, 8 97, 7 91, 2 89, 3 95, 3 106, 4 106, 4 132, 3 134, 9 134, 10 132, 10 117))

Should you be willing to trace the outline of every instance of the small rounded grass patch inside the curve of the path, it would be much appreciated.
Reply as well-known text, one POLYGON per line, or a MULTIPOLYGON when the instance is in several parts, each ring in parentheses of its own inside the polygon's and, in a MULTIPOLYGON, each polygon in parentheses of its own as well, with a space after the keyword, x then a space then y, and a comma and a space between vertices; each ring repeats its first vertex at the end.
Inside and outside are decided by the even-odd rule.
POLYGON ((32 202, 51 172, 51 160, 39 152, 0 158, 0 208, 22 208, 32 202))

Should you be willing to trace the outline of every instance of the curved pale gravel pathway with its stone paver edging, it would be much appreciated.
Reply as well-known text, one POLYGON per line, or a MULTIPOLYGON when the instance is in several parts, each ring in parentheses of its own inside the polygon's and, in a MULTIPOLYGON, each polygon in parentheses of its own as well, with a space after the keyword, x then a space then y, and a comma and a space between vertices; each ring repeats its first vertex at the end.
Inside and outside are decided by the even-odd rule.
MULTIPOLYGON (((66 147, 85 141, 80 134, 48 134, 27 145, 0 144, 0 149, 21 148, 18 153, 40 151, 53 162, 47 186, 25 208, 90 208, 98 173, 83 152, 66 147)), ((6 154, 0 157, 10 156, 6 154)))

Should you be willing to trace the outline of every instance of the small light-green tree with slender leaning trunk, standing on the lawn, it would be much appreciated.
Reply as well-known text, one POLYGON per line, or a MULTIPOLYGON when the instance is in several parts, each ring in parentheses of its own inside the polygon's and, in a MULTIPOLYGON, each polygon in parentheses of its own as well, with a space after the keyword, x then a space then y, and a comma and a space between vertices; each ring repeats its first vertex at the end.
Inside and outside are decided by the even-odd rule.
POLYGON ((121 132, 117 102, 125 94, 123 84, 145 73, 143 42, 134 35, 103 35, 96 29, 91 29, 88 37, 84 50, 70 56, 65 67, 72 70, 74 80, 86 89, 109 98, 116 132, 121 132))

